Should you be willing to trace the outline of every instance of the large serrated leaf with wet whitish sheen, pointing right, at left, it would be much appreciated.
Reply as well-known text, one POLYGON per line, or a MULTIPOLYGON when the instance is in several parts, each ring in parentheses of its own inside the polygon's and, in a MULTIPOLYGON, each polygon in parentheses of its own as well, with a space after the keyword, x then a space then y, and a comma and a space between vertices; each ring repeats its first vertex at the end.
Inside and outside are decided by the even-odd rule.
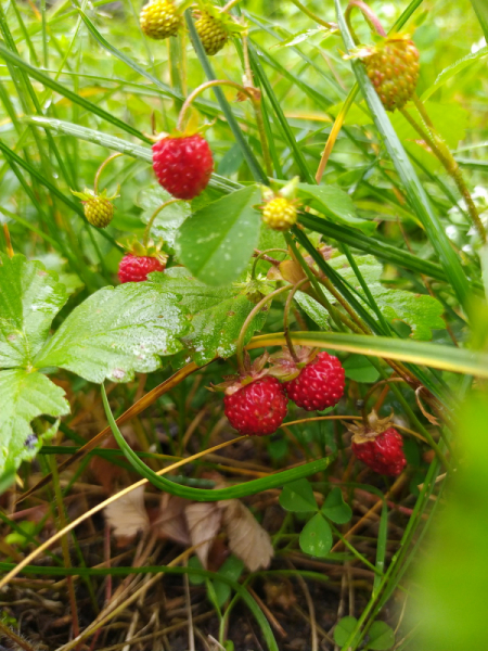
POLYGON ((90 382, 128 382, 160 367, 159 356, 181 350, 189 320, 179 296, 156 283, 103 288, 78 305, 35 359, 90 382))

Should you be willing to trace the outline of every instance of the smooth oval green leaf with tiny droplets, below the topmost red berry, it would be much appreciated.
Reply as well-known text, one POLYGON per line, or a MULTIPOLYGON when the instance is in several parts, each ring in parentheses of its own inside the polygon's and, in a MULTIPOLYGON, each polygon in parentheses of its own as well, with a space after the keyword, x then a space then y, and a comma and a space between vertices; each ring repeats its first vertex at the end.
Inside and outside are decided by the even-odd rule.
POLYGON ((181 263, 211 286, 230 284, 246 268, 259 239, 260 216, 253 207, 260 190, 249 186, 208 204, 179 230, 181 263))

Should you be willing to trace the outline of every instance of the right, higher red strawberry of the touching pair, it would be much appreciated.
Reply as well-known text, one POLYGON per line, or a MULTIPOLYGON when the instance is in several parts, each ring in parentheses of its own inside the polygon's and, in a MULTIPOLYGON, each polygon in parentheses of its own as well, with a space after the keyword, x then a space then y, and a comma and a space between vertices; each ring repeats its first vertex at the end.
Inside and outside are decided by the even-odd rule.
POLYGON ((343 397, 344 385, 343 365, 329 353, 319 353, 297 378, 284 383, 288 398, 307 411, 336 405, 343 397))

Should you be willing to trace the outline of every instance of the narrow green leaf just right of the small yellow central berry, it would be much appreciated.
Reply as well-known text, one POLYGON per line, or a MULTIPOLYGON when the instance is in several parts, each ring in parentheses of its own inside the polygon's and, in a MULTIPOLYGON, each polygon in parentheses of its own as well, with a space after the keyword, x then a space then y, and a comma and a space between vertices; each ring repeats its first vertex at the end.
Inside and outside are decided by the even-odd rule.
POLYGON ((358 217, 351 197, 337 186, 298 183, 298 196, 335 224, 357 228, 367 234, 376 230, 375 221, 358 217))

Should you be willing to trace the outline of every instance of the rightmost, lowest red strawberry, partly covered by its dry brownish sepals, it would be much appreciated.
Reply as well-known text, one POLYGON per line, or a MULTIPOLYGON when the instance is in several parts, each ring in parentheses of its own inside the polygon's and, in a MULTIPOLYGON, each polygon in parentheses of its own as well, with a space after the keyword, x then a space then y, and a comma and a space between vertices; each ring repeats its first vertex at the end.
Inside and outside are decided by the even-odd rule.
POLYGON ((403 439, 395 427, 388 427, 370 438, 355 435, 352 452, 356 457, 380 474, 396 476, 407 465, 403 455, 403 439))

